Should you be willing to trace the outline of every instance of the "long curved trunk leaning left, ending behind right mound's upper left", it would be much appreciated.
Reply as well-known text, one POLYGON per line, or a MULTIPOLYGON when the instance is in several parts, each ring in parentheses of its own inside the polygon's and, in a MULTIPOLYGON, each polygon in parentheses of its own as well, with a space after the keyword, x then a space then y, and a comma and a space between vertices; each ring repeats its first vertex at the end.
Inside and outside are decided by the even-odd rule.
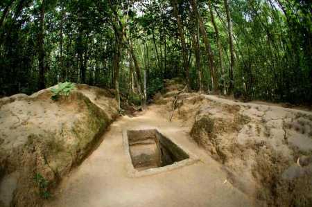
POLYGON ((200 16, 200 13, 198 12, 196 1, 195 0, 190 0, 190 1, 191 1, 191 7, 193 11, 196 13, 196 16, 198 18, 198 23, 200 26, 200 33, 202 34, 202 39, 205 44, 206 53, 207 53, 207 56, 209 57, 211 81, 214 87, 214 92, 216 93, 218 92, 218 79, 216 77, 216 69, 214 67, 214 53, 212 53, 211 45, 210 45, 208 35, 206 32, 206 28, 205 28, 205 24, 204 24, 204 21, 202 20, 202 17, 200 16))

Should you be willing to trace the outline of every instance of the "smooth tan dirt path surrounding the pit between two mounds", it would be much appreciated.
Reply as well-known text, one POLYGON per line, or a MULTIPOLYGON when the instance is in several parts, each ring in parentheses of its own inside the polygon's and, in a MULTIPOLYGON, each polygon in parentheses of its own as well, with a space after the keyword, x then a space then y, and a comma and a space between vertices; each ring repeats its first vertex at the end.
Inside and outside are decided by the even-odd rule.
POLYGON ((45 206, 254 206, 227 181, 222 166, 191 141, 186 128, 156 111, 152 106, 137 117, 123 116, 113 123, 103 143, 63 179, 45 206), (148 177, 129 177, 122 131, 150 128, 159 129, 200 161, 148 177))

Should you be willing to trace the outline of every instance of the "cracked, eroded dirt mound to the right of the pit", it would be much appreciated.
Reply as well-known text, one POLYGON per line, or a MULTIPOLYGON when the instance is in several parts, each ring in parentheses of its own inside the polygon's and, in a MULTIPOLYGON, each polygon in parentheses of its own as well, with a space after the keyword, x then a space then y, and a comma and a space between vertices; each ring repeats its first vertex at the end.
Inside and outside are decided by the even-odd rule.
MULTIPOLYGON (((170 93, 170 92, 169 92, 170 93)), ((169 116, 173 98, 159 98, 169 116)), ((174 119, 259 206, 312 206, 312 114, 181 93, 174 119)))

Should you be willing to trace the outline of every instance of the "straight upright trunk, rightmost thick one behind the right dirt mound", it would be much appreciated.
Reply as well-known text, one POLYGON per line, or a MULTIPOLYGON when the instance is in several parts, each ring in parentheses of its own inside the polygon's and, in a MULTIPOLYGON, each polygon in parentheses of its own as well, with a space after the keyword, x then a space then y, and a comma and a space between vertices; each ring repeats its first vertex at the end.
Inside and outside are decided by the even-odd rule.
POLYGON ((229 1, 224 0, 225 11, 227 12, 227 24, 229 28, 229 51, 231 53, 231 64, 229 66, 229 94, 233 93, 234 89, 234 64, 235 64, 235 55, 234 55, 234 44, 233 44, 233 26, 231 13, 229 12, 229 1))

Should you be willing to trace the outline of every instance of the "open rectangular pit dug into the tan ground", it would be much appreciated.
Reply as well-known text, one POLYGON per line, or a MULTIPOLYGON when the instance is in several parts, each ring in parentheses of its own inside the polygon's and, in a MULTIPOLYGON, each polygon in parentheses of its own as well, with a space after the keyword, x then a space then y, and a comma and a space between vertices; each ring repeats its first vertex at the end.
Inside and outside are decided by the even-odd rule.
POLYGON ((189 158, 186 152, 156 129, 128 130, 127 136, 136 170, 159 168, 189 158))

